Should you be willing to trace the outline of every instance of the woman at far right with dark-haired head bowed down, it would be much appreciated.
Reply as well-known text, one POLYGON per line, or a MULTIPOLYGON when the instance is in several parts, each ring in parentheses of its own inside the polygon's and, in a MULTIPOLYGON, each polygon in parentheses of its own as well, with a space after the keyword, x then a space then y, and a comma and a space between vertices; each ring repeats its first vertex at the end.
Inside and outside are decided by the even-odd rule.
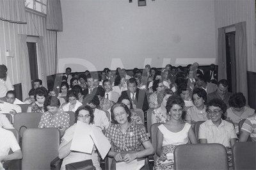
POLYGON ((234 123, 236 132, 238 133, 239 121, 255 114, 255 110, 245 105, 246 99, 243 93, 241 92, 234 93, 229 98, 228 104, 230 107, 227 109, 227 112, 225 113, 225 116, 227 117, 226 120, 231 120, 234 123))

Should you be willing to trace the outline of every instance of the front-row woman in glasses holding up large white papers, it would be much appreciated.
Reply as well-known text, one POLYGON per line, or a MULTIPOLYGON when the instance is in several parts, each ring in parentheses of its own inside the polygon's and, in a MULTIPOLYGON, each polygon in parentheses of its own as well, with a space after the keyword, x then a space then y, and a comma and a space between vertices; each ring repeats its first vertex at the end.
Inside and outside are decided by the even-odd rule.
MULTIPOLYGON (((76 122, 77 120, 79 120, 94 126, 93 125, 94 115, 93 115, 92 108, 90 106, 83 105, 79 107, 76 111, 75 116, 76 116, 76 122)), ((67 164, 80 162, 88 159, 92 159, 93 166, 95 166, 97 170, 101 169, 100 163, 99 163, 99 155, 96 151, 95 146, 93 147, 92 154, 70 150, 70 146, 72 143, 72 138, 74 136, 75 130, 76 130, 76 123, 72 125, 72 127, 68 128, 65 134, 63 135, 63 137, 61 138, 61 144, 59 147, 59 158, 63 158, 63 162, 61 164, 61 170, 65 169, 65 165, 67 164)), ((101 130, 99 129, 99 131, 101 130)))

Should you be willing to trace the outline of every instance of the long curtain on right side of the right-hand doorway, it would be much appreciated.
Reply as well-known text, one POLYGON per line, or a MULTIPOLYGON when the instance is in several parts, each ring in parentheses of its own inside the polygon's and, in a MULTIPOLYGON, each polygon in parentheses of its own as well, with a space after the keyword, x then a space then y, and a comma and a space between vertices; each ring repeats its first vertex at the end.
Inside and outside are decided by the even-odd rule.
POLYGON ((246 22, 239 22, 235 27, 236 90, 242 92, 248 101, 246 22))

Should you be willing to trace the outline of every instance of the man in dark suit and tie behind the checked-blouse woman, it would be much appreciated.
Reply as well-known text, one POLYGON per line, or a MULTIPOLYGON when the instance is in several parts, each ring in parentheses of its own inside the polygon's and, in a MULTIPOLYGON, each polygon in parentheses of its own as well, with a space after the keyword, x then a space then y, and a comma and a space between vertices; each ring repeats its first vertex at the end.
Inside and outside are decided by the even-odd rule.
MULTIPOLYGON (((138 84, 136 79, 131 78, 127 81, 127 90, 123 91, 121 97, 129 97, 135 108, 148 110, 147 94, 142 89, 137 88, 138 84)), ((134 108, 134 107, 133 107, 134 108)))

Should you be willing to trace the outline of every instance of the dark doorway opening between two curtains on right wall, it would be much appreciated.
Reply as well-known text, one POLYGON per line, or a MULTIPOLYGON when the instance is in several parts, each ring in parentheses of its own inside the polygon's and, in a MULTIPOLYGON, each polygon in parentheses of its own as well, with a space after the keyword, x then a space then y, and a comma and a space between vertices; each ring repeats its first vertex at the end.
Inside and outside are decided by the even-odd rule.
POLYGON ((226 36, 226 63, 227 63, 227 81, 228 91, 236 93, 236 50, 235 36, 236 31, 225 34, 226 36))

